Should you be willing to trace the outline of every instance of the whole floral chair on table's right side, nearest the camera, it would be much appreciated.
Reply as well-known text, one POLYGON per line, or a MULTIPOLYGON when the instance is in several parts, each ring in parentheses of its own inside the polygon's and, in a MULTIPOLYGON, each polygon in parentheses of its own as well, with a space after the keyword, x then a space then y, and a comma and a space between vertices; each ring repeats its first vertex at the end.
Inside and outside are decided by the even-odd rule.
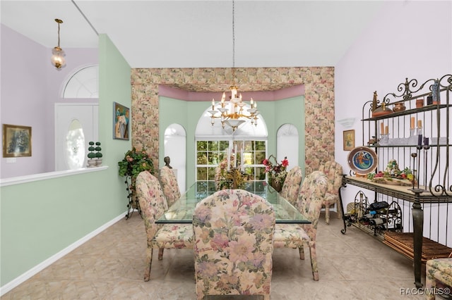
POLYGON ((299 258, 304 259, 304 246, 309 246, 312 277, 319 280, 316 256, 316 234, 323 197, 328 178, 320 171, 314 171, 304 178, 295 207, 311 221, 311 224, 276 224, 273 245, 275 248, 299 249, 299 258))

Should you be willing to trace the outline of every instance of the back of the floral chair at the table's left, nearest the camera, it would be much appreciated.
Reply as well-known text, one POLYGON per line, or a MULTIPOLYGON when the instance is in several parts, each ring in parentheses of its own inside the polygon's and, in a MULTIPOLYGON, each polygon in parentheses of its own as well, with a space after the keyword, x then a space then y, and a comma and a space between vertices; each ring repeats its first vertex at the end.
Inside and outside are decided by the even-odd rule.
POLYGON ((135 184, 136 196, 140 204, 141 216, 144 219, 149 242, 160 227, 155 224, 155 220, 160 218, 165 212, 167 203, 160 187, 160 182, 149 171, 143 171, 138 174, 135 184))

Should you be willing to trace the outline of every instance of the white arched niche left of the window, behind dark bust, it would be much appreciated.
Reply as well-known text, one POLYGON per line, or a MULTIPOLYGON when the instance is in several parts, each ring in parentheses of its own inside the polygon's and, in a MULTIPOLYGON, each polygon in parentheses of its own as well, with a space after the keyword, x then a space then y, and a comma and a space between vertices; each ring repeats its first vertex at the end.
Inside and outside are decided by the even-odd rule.
POLYGON ((165 129, 165 156, 169 156, 176 175, 179 190, 186 191, 186 131, 173 123, 165 129))

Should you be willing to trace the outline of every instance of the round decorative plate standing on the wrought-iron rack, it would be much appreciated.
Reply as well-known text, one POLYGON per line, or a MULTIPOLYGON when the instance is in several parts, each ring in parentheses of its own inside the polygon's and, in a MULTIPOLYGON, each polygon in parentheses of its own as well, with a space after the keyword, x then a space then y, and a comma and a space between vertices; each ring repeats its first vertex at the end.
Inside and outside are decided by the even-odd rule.
POLYGON ((367 175, 376 169, 379 158, 374 150, 359 146, 348 154, 348 165, 358 175, 367 175))

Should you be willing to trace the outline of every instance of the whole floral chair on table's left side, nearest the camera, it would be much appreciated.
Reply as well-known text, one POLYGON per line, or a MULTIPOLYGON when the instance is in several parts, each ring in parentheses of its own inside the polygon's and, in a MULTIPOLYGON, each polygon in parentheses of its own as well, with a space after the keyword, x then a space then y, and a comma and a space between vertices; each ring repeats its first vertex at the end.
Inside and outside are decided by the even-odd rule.
POLYGON ((148 171, 143 171, 136 177, 136 195, 148 236, 144 273, 144 281, 148 281, 154 247, 159 248, 159 260, 162 260, 165 248, 193 248, 193 227, 191 224, 155 224, 155 220, 165 212, 167 204, 160 182, 148 171))

